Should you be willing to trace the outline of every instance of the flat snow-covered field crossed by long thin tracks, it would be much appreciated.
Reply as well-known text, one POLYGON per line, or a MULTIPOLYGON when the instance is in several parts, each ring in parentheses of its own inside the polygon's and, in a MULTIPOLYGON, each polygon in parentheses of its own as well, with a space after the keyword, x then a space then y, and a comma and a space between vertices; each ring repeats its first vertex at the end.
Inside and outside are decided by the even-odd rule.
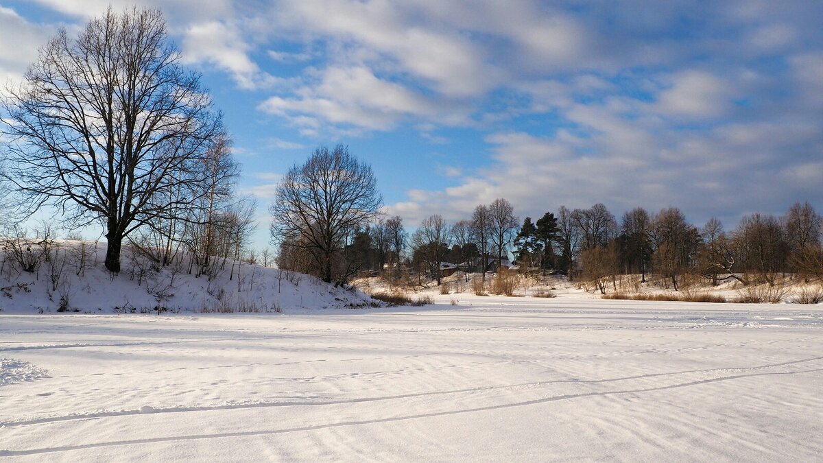
POLYGON ((2 461, 821 461, 823 306, 0 315, 2 461))

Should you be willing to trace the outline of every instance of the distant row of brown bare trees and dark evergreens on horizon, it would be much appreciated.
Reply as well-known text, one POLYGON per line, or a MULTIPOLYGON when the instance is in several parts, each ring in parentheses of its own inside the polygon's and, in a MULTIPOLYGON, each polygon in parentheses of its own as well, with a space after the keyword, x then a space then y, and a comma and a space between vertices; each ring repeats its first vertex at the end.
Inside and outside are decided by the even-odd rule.
MULTIPOLYGON (((634 208, 617 218, 602 203, 560 206, 556 213, 520 222, 508 200, 495 199, 457 222, 427 217, 411 234, 402 217, 377 218, 351 233, 338 279, 364 270, 400 278, 405 271, 439 284, 443 263, 485 275, 512 257, 521 272, 584 278, 602 293, 615 275, 625 274, 639 274, 642 281, 655 274, 675 290, 686 275, 714 285, 731 279, 773 285, 783 274, 823 278, 821 224, 821 214, 808 202, 794 203, 779 217, 746 214, 732 229, 715 217, 691 224, 675 207, 656 213, 634 208)), ((305 251, 301 256, 283 243, 277 262, 284 269, 317 274, 305 251)))

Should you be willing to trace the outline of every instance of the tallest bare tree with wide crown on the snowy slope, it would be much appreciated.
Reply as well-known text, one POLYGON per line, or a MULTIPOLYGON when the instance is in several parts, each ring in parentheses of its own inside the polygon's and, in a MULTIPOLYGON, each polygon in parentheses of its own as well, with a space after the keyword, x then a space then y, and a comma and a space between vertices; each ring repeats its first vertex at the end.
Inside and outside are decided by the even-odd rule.
POLYGON ((202 192, 197 161, 221 133, 199 74, 179 60, 159 10, 109 8, 77 38, 60 30, 2 102, 8 177, 26 208, 102 222, 113 272, 123 237, 202 192))

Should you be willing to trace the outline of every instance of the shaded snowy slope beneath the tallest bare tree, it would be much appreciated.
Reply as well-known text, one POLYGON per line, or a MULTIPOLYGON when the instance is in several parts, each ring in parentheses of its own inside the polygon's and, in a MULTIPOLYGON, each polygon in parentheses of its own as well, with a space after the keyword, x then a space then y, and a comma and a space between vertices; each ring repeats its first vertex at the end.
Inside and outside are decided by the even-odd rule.
POLYGON ((196 277, 187 260, 158 266, 127 249, 123 270, 111 274, 103 265, 105 243, 56 241, 47 250, 30 248, 18 260, 32 263, 31 272, 13 250, 0 255, 0 313, 279 312, 374 303, 362 292, 309 275, 231 260, 221 261, 212 278, 196 277))

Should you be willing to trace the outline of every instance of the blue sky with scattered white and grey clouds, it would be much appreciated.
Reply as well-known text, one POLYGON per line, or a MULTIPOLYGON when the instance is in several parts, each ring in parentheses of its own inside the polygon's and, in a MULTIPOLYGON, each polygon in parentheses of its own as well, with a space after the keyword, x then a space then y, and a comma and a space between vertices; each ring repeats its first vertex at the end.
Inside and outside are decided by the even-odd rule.
MULTIPOLYGON (((134 2, 111 2, 123 8, 134 2)), ((97 0, 0 0, 0 80, 97 0)), ((407 226, 506 198, 697 225, 823 209, 823 2, 147 0, 226 115, 257 241, 319 144, 370 162, 407 226)))

